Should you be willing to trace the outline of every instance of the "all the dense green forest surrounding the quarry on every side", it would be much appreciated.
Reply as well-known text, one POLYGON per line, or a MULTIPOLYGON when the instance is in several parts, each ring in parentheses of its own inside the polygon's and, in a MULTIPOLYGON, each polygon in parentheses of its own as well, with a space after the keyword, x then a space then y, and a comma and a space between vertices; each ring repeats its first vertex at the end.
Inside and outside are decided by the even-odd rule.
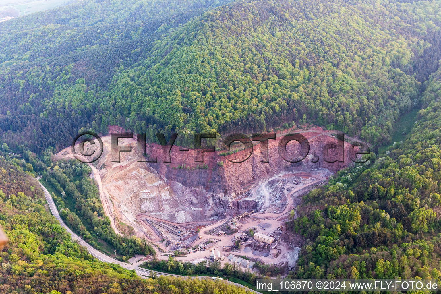
MULTIPOLYGON (((141 281, 71 242, 26 173, 44 174, 62 195, 55 197, 61 215, 88 242, 102 238, 122 255, 151 252, 111 230, 89 167, 50 162, 51 150, 82 128, 106 133, 118 125, 149 141, 157 131, 178 132, 177 143, 191 145, 198 131, 311 123, 383 145, 414 108, 405 140, 305 196, 300 217, 287 223, 302 247, 288 277, 440 279, 440 5, 85 0, 0 23, 0 139, 25 159, 0 158, 0 224, 10 237, 0 253, 0 289, 242 291, 206 281, 141 281)), ((179 264, 151 265, 194 271, 179 264)))

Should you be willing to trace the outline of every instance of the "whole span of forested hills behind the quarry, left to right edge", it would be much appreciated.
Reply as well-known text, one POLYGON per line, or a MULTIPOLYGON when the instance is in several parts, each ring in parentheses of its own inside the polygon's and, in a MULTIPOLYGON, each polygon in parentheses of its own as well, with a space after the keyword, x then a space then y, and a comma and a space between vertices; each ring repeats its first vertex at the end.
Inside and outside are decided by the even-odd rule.
MULTIPOLYGON (((390 140, 441 58, 435 1, 86 1, 0 24, 0 135, 314 123, 390 140)), ((41 140, 43 138, 43 140, 41 140)))

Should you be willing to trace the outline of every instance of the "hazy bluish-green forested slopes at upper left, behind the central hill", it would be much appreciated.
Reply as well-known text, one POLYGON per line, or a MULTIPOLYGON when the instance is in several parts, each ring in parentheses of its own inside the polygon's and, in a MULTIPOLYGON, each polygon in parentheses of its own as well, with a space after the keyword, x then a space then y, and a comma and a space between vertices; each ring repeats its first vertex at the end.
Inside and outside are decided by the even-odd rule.
POLYGON ((228 2, 86 0, 0 23, 1 135, 41 153, 70 144, 82 127, 106 130, 99 104, 116 70, 228 2))

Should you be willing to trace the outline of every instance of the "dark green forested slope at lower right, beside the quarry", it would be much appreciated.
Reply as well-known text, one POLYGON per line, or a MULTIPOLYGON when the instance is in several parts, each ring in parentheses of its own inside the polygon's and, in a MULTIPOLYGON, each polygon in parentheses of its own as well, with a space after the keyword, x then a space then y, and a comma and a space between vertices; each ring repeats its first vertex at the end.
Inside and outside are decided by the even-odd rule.
POLYGON ((300 278, 441 277, 441 70, 407 140, 313 190, 289 229, 306 240, 300 278))

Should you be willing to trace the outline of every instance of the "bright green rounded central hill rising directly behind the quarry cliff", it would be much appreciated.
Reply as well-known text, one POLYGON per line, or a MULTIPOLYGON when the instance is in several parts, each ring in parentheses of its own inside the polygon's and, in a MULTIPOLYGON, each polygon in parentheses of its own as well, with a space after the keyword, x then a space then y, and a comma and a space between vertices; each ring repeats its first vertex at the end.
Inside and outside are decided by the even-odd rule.
POLYGON ((115 101, 129 116, 127 125, 139 131, 154 124, 183 134, 251 132, 307 121, 387 140, 394 120, 418 97, 409 69, 413 50, 429 44, 401 29, 400 13, 378 26, 375 15, 386 8, 369 6, 377 9, 340 1, 223 6, 157 42, 146 61, 117 73, 106 102, 115 101))

